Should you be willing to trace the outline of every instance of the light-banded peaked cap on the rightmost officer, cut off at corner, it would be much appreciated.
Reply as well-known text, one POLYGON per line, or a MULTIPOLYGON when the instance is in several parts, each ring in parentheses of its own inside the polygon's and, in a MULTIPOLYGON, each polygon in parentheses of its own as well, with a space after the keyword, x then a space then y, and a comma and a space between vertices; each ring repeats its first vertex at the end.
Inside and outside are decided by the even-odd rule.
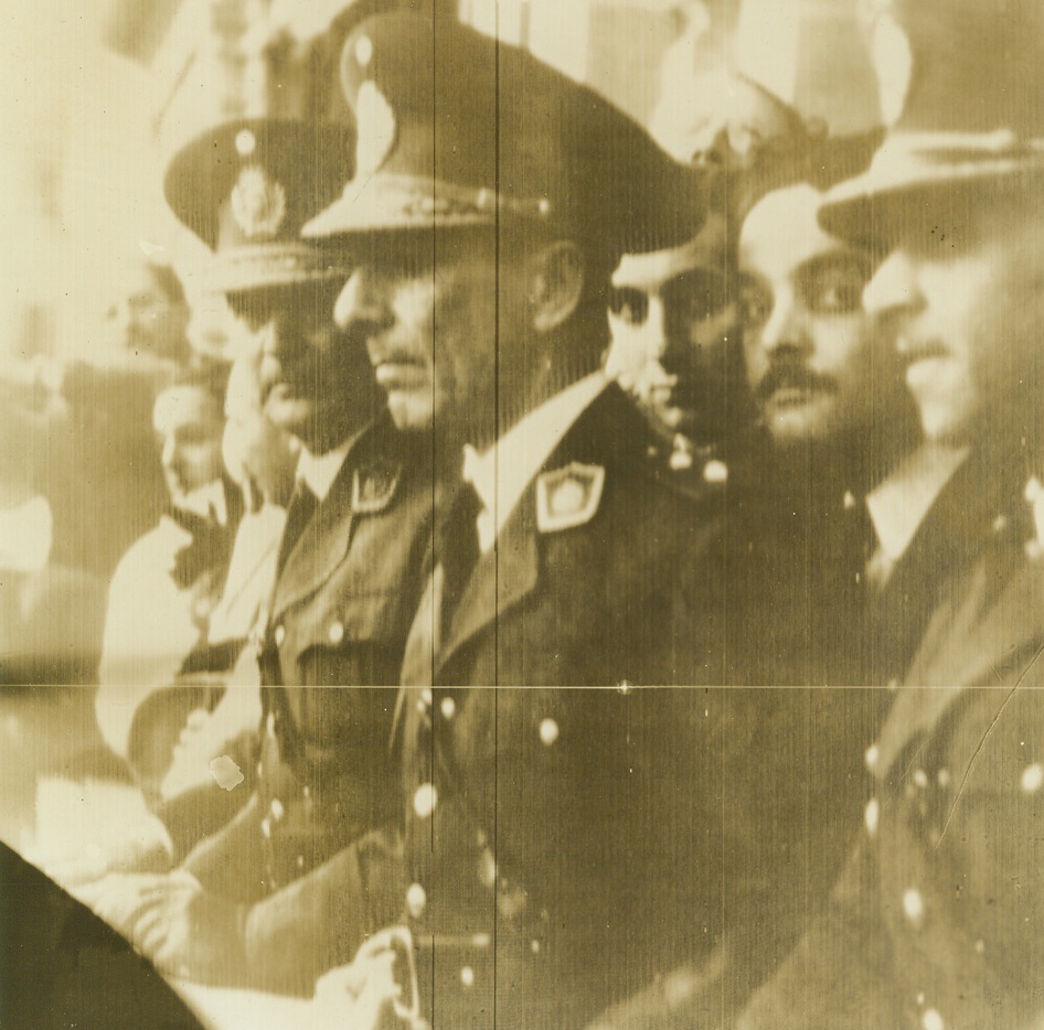
POLYGON ((928 194, 1004 191, 1044 171, 1044 3, 875 8, 872 51, 889 128, 866 172, 828 194, 828 232, 880 239, 928 194))

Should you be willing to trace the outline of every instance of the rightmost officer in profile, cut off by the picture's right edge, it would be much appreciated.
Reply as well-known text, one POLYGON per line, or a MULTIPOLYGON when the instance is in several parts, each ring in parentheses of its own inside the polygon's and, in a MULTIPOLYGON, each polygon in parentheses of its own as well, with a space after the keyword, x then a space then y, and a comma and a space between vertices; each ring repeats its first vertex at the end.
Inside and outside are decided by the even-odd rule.
POLYGON ((873 40, 892 128, 820 218, 884 254, 865 304, 896 326, 926 436, 967 449, 967 500, 865 755, 859 849, 741 1024, 1038 1027, 1044 9, 901 0, 873 40))

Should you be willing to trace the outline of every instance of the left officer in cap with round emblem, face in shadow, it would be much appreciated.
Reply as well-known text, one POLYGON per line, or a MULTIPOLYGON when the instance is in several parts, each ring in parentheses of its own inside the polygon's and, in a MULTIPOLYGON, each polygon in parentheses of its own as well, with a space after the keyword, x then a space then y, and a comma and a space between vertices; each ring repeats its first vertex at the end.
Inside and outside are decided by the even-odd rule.
POLYGON ((382 829, 397 811, 392 686, 434 492, 429 444, 391 425, 361 340, 333 323, 351 266, 299 238, 349 178, 353 144, 341 126, 238 120, 190 142, 166 180, 260 348, 265 411, 302 457, 256 644, 255 794, 129 929, 163 968, 307 994, 386 921, 382 890, 397 883, 397 834, 382 829))

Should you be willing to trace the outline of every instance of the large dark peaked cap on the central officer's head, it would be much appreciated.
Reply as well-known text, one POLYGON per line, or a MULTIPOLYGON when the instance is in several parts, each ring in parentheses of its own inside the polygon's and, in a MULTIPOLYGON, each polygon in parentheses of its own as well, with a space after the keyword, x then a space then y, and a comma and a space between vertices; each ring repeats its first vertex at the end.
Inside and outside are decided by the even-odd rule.
POLYGON ((303 230, 333 237, 524 218, 608 251, 703 222, 699 179, 631 118, 528 51, 454 19, 383 14, 345 41, 355 178, 303 230))

